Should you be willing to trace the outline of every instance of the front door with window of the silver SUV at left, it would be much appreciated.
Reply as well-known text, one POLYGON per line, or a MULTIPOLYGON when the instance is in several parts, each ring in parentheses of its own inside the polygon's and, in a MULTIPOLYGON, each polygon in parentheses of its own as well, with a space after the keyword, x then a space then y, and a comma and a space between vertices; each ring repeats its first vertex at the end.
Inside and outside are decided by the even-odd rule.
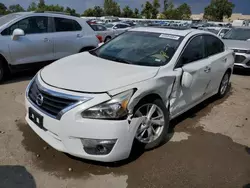
POLYGON ((52 33, 49 32, 49 19, 45 16, 28 17, 10 26, 10 34, 22 29, 25 36, 9 39, 11 64, 51 61, 54 59, 52 33))

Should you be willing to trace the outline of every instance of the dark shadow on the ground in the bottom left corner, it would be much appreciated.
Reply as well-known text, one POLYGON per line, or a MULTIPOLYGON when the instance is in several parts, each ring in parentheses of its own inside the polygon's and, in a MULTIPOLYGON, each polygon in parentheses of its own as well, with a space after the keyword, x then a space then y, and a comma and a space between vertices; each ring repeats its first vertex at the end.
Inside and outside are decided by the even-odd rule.
POLYGON ((36 188, 36 182, 23 166, 0 166, 0 187, 36 188))

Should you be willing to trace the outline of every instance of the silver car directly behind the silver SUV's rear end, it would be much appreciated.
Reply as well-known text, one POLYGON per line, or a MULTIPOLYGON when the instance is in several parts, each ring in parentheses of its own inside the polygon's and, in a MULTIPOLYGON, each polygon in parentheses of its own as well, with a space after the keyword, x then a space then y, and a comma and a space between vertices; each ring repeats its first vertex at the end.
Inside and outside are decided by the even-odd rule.
POLYGON ((102 37, 103 42, 108 42, 115 37, 114 30, 107 29, 104 25, 90 24, 90 27, 95 31, 96 35, 102 37))

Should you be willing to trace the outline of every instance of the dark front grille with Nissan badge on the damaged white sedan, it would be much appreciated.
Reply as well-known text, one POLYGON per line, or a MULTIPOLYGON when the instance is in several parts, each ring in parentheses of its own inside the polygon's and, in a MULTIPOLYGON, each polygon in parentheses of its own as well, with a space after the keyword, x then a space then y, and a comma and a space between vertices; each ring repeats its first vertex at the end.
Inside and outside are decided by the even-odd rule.
POLYGON ((59 114, 59 112, 61 112, 63 109, 77 102, 76 100, 57 97, 51 95, 48 92, 43 91, 42 89, 38 88, 36 81, 32 83, 28 96, 30 100, 34 104, 36 104, 42 111, 54 117, 56 117, 59 114), (38 104, 38 96, 40 96, 39 104, 38 104))

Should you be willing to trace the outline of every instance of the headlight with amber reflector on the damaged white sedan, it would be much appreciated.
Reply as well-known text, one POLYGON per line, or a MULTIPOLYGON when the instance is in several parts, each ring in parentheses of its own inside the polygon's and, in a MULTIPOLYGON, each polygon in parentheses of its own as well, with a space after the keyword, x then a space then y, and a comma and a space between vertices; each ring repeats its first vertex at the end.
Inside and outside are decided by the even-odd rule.
POLYGON ((89 119, 121 119, 128 114, 127 106, 134 90, 120 93, 108 102, 91 107, 82 112, 83 118, 89 119))

